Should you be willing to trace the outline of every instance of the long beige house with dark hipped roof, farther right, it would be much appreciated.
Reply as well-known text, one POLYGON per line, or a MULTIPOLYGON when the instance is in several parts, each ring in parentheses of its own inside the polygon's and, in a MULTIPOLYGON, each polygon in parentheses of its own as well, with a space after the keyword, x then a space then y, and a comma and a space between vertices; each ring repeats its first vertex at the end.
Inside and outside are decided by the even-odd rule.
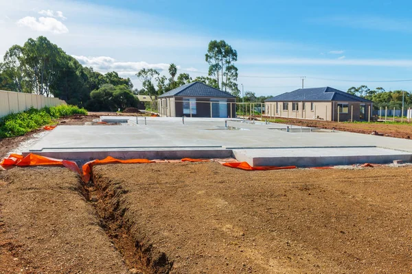
POLYGON ((264 101, 266 115, 325 121, 368 121, 372 101, 335 88, 299 88, 264 101))

